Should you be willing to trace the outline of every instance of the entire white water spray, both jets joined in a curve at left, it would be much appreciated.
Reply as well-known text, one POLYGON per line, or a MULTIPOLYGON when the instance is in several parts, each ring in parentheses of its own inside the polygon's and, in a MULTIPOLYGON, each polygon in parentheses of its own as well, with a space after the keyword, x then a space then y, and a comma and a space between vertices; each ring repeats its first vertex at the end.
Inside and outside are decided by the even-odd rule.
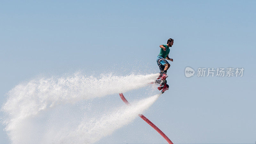
POLYGON ((100 121, 91 119, 89 120, 91 123, 88 123, 88 120, 84 120, 84 122, 80 122, 76 129, 64 128, 56 132, 57 129, 40 127, 40 132, 38 130, 36 133, 36 130, 33 129, 33 127, 36 127, 33 121, 35 121, 35 118, 37 118, 42 111, 47 112, 47 110, 54 106, 75 104, 80 100, 88 100, 95 97, 141 88, 153 82, 157 76, 158 74, 121 77, 102 75, 96 78, 93 76, 86 77, 81 74, 75 74, 58 79, 41 78, 31 80, 28 83, 19 84, 8 93, 7 102, 2 106, 2 110, 6 115, 4 118, 4 124, 6 125, 5 130, 13 143, 62 143, 65 141, 68 142, 68 140, 71 140, 69 142, 76 141, 78 143, 96 142, 101 137, 111 134, 115 129, 131 122, 138 113, 148 108, 157 99, 157 96, 146 99, 144 102, 142 100, 142 102, 139 102, 140 104, 135 104, 128 109, 122 108, 123 110, 115 110, 112 113, 109 112, 109 114, 101 117, 100 121), (153 98, 155 98, 155 100, 152 100, 153 98), (118 117, 118 115, 123 117, 118 117), (118 121, 115 121, 115 119, 111 117, 116 117, 118 121), (128 119, 123 120, 125 119, 124 117, 128 117, 128 119), (104 124, 104 122, 106 123, 106 127, 101 125, 104 124), (115 126, 111 127, 111 125, 115 126), (72 129, 72 131, 70 129, 72 129), (99 131, 100 129, 104 131, 101 133, 99 131), (68 133, 68 135, 62 133, 64 131, 68 133), (82 137, 83 135, 85 137, 82 137), (39 138, 36 139, 36 137, 39 138))

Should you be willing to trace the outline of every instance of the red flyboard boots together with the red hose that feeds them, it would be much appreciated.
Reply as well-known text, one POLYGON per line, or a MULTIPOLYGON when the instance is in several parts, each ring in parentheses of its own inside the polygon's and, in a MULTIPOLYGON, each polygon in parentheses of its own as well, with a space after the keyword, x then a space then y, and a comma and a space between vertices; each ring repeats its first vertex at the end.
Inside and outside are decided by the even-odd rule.
MULTIPOLYGON (((166 77, 165 77, 166 78, 166 77)), ((156 80, 156 84, 160 84, 160 86, 157 88, 159 91, 161 91, 161 93, 164 93, 164 91, 169 89, 169 85, 166 84, 166 80, 162 79, 162 80, 156 80)), ((160 78, 157 78, 160 79, 160 78)), ((153 84, 153 83, 152 83, 153 84)), ((128 100, 125 99, 123 93, 119 93, 120 98, 124 101, 124 103, 126 105, 131 105, 128 100)), ((140 118, 142 118, 146 123, 148 123, 151 127, 153 127, 169 144, 173 144, 172 141, 164 134, 164 132, 162 132, 155 124, 153 124, 147 117, 143 116, 142 114, 139 114, 140 118)))

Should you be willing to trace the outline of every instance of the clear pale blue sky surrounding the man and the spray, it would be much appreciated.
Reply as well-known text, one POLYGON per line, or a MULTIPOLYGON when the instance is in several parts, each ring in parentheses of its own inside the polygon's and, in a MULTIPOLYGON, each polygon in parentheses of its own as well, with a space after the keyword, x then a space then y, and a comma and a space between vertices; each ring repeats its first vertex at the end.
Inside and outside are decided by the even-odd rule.
MULTIPOLYGON (((177 143, 255 143, 255 5, 256 1, 1 1, 1 103, 15 85, 41 74, 116 72, 118 67, 126 69, 119 72, 124 75, 133 71, 129 67, 138 73, 158 72, 159 45, 173 38, 171 89, 145 116, 177 143), (187 66, 245 70, 243 77, 186 78, 187 66)), ((165 142, 140 119, 99 142, 124 140, 165 142), (141 134, 142 128, 148 133, 141 134)), ((0 143, 8 142, 0 131, 0 143)))

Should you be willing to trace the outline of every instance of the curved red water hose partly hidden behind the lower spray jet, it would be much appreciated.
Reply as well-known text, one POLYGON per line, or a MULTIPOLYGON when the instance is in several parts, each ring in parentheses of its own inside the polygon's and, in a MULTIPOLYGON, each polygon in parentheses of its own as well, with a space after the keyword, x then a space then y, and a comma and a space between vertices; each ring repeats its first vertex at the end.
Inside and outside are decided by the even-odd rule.
MULTIPOLYGON (((130 103, 125 99, 123 93, 119 93, 121 99, 124 101, 126 105, 130 105, 130 103)), ((161 134, 162 137, 169 143, 173 144, 172 141, 162 132, 155 124, 153 124, 147 117, 143 116, 142 114, 139 114, 140 118, 142 118, 145 122, 147 122, 150 126, 152 126, 159 134, 161 134)))

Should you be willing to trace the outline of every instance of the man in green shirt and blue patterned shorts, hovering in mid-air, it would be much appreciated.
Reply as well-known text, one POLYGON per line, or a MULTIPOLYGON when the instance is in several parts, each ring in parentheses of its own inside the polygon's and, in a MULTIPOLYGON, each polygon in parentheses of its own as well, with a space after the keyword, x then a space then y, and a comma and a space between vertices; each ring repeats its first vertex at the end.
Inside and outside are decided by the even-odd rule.
POLYGON ((167 40, 167 45, 160 45, 160 53, 157 56, 156 62, 157 65, 160 68, 160 76, 159 78, 163 78, 165 79, 166 77, 168 77, 168 75, 166 74, 167 70, 170 68, 170 64, 167 62, 167 60, 173 61, 173 59, 169 58, 169 52, 170 52, 170 48, 173 45, 173 39, 170 38, 167 40), (165 60, 167 59, 167 60, 165 60))

